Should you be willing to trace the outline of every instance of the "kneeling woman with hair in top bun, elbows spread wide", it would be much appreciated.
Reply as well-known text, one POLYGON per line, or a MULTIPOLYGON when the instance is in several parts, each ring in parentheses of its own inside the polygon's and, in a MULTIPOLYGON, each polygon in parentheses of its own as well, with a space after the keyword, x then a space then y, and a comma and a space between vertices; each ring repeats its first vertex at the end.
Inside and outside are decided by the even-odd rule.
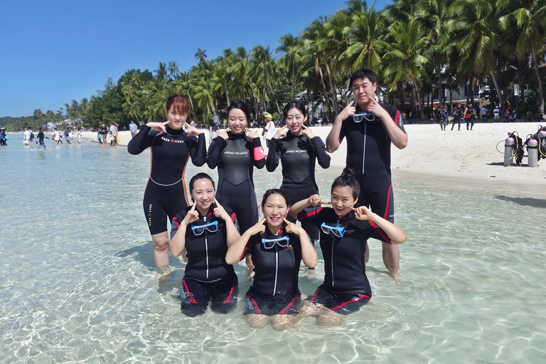
POLYGON ((299 306, 304 316, 319 316, 323 325, 338 325, 343 315, 358 311, 370 301, 372 289, 364 255, 369 237, 390 244, 405 242, 406 235, 396 225, 381 218, 365 206, 354 208, 360 186, 353 171, 343 170, 333 181, 331 208, 304 211, 308 206, 330 204, 319 195, 301 200, 290 208, 290 215, 321 228, 321 250, 324 257, 324 282, 311 298, 299 306))

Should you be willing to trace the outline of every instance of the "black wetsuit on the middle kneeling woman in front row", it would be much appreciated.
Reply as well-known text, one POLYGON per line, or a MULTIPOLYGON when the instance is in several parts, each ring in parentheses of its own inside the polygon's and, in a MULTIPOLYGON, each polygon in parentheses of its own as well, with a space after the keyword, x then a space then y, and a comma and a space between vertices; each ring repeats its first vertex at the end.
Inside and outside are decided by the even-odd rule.
POLYGON ((250 237, 245 249, 245 253, 247 252, 252 254, 255 276, 252 286, 247 291, 244 313, 267 316, 297 314, 297 306, 301 298, 298 288, 301 263, 299 237, 286 232, 284 227, 277 235, 272 235, 266 228, 265 234, 250 237), (284 236, 289 237, 288 247, 275 244, 272 248, 266 249, 262 244, 262 237, 284 236))

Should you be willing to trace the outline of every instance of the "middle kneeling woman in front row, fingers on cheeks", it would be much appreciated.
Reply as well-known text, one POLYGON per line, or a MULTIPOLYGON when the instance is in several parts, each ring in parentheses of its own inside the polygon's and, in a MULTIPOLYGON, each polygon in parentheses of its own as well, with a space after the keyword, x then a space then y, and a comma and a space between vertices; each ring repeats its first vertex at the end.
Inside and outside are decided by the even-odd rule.
POLYGON ((271 320, 275 329, 284 330, 301 319, 296 309, 301 298, 299 264, 303 259, 314 268, 317 255, 305 230, 286 219, 288 209, 284 192, 268 190, 262 198, 264 219, 245 231, 225 256, 228 264, 235 264, 246 253, 252 254, 255 276, 244 314, 254 328, 265 327, 271 320))

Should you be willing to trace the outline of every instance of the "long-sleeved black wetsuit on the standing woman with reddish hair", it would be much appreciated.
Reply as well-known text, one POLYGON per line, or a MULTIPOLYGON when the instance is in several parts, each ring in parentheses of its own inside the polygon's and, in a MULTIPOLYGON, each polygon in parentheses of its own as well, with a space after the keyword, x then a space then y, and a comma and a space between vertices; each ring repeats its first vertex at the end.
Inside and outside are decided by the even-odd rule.
POLYGON ((151 149, 151 172, 142 205, 150 234, 154 235, 167 231, 167 216, 170 221, 188 207, 184 172, 190 156, 195 166, 205 164, 205 135, 188 137, 183 129, 170 127, 160 134, 144 125, 129 141, 127 151, 140 154, 147 148, 151 149))

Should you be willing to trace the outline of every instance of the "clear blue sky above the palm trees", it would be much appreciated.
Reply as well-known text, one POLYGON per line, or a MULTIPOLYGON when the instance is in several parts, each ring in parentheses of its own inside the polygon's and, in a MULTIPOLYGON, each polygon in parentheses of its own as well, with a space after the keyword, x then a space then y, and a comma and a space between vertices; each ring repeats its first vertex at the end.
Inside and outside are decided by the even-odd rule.
MULTIPOLYGON (((3 1, 0 11, 0 117, 56 112, 102 90, 131 68, 176 60, 185 71, 205 49, 272 49, 345 0, 3 1)), ((368 3, 371 4, 371 1, 368 3)), ((383 9, 389 0, 376 1, 383 9)))

